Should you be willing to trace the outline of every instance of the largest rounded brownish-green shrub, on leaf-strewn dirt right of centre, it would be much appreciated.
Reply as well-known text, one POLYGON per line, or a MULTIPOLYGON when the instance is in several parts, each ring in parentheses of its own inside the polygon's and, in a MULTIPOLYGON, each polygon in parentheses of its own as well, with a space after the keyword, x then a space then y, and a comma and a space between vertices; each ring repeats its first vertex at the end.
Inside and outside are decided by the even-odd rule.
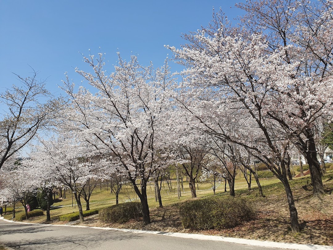
POLYGON ((184 228, 192 229, 232 228, 256 217, 247 199, 232 196, 195 199, 181 204, 179 209, 184 228))

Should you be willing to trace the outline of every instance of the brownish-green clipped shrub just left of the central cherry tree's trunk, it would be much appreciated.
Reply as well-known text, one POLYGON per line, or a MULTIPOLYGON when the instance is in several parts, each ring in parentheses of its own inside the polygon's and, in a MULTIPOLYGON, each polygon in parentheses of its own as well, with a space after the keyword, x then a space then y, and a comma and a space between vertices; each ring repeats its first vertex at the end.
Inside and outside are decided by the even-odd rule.
POLYGON ((126 202, 113 205, 101 210, 98 218, 105 223, 125 223, 131 219, 142 217, 140 202, 126 202))

